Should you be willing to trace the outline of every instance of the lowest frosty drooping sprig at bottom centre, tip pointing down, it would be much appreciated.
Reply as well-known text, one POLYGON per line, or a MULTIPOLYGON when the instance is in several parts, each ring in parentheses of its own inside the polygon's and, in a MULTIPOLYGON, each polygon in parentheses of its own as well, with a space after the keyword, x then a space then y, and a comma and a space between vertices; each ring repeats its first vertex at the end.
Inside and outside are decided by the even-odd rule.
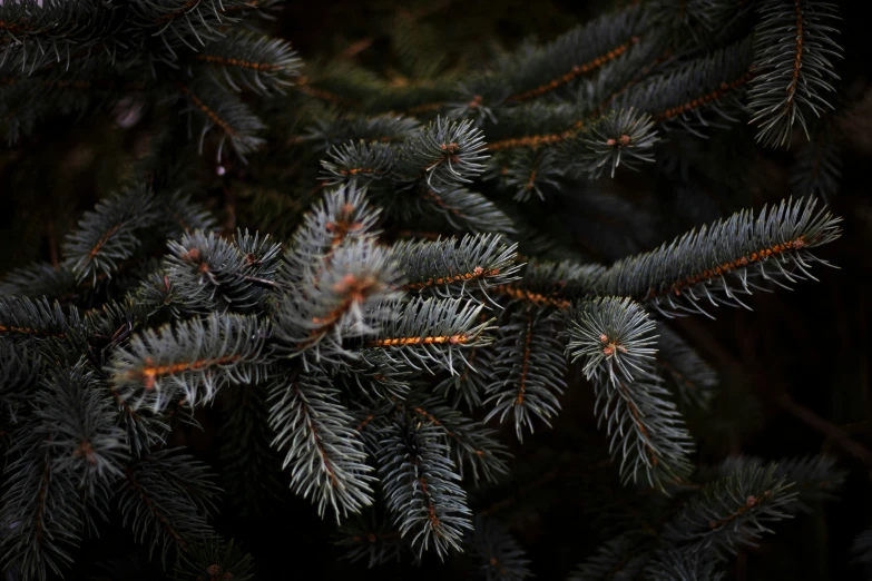
POLYGON ((388 508, 401 536, 413 535, 419 555, 432 543, 444 559, 450 549, 460 550, 463 530, 471 529, 466 493, 457 481, 454 463, 432 424, 391 424, 381 434, 379 473, 388 508))

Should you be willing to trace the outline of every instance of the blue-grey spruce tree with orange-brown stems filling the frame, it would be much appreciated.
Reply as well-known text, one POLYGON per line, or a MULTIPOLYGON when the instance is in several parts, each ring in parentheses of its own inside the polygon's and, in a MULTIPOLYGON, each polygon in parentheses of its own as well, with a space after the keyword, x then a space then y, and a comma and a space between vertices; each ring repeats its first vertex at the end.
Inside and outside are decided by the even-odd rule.
MULTIPOLYGON (((753 400, 676 323, 844 264, 842 10, 614 4, 460 63, 401 10, 384 72, 301 58, 274 0, 1 2, 4 158, 136 134, 0 283, 7 578, 296 577, 314 551, 325 577, 717 580, 839 498, 837 454, 706 447, 753 400), (734 195, 765 156, 794 195, 734 195), (739 186, 712 213, 717 171, 739 186), (586 544, 552 531, 539 563, 525 523, 555 511, 586 544)), ((48 178, 22 168, 23 200, 48 178)))

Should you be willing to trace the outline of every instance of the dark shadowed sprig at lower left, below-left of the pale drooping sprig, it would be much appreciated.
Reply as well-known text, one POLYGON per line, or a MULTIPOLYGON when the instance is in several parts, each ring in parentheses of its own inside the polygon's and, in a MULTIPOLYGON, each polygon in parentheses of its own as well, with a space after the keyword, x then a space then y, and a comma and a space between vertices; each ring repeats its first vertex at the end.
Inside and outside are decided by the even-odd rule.
POLYGON ((159 546, 166 563, 174 548, 184 551, 212 536, 206 518, 217 492, 205 464, 160 450, 127 469, 118 506, 137 542, 148 543, 149 558, 159 546))

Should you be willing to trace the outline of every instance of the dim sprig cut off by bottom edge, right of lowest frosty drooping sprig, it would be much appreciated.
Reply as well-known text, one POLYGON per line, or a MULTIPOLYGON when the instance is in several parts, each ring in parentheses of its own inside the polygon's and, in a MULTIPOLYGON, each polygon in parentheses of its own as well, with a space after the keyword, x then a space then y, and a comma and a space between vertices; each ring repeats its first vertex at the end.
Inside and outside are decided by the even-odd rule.
POLYGON ((474 533, 467 533, 464 544, 479 561, 488 581, 523 581, 533 577, 530 560, 518 541, 498 521, 477 515, 474 533))

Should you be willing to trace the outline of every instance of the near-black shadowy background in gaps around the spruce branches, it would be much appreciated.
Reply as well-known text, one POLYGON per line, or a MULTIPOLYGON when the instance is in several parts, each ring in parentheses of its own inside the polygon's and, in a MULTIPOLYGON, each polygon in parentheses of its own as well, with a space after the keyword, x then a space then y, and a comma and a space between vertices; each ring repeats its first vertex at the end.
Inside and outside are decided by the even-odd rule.
MULTIPOLYGON (((304 60, 344 52, 383 75, 398 75, 391 68, 393 35, 410 12, 420 11, 419 18, 437 32, 448 55, 444 68, 449 69, 457 63, 487 61, 492 55, 489 43, 512 47, 530 36, 550 40, 605 4, 520 0, 434 0, 413 7, 408 2, 288 2, 274 26, 304 60)), ((850 471, 841 500, 776 525, 776 535, 766 536, 758 549, 741 553, 731 563, 731 579, 860 579, 860 569, 849 565, 847 548, 860 531, 872 525, 868 301, 872 290, 872 204, 866 186, 872 160, 872 99, 866 77, 871 55, 864 20, 852 18, 858 16, 858 6, 847 2, 844 7, 841 42, 846 59, 840 72, 845 82, 841 90, 849 102, 837 121, 844 135, 844 170, 840 191, 830 199, 833 213, 844 218, 844 235, 820 250, 820 256, 837 268, 815 267, 820 283, 803 282, 793 292, 751 297, 753 311, 722 308, 717 321, 696 317, 675 325, 722 378, 714 418, 697 426, 706 434, 700 460, 714 462, 727 453, 777 459, 827 451, 837 455, 841 469, 850 471), (785 393, 795 405, 783 403, 785 393), (840 443, 844 439, 861 452, 852 444, 847 447, 854 453, 846 451, 840 443), (858 457, 863 453, 865 459, 858 457)), ((737 127, 733 132, 743 130, 737 127)), ((0 274, 33 259, 56 257, 65 233, 81 210, 92 207, 106 193, 120 156, 136 144, 137 135, 112 126, 107 111, 106 119, 85 124, 58 119, 50 131, 21 147, 0 149, 0 274)), ((760 208, 790 195, 788 152, 743 150, 747 140, 734 136, 715 136, 702 144, 678 140, 673 147, 676 156, 707 152, 735 163, 699 173, 687 190, 676 191, 663 177, 666 170, 648 167, 638 175, 620 176, 617 183, 606 180, 566 190, 531 204, 530 211, 539 214, 542 224, 569 233, 587 255, 609 262, 629 252, 650 249, 738 208, 760 208), (604 203, 604 197, 611 201, 604 203)), ((213 201, 221 213, 221 201, 213 201)), ((596 431, 589 430, 594 421, 585 390, 581 382, 570 380, 555 429, 537 430, 529 450, 517 451, 520 457, 545 464, 538 476, 530 475, 515 490, 496 491, 479 501, 481 506, 499 505, 494 514, 512 524, 538 579, 565 577, 575 563, 592 554, 591 540, 598 534, 594 521, 585 516, 592 500, 579 494, 572 481, 579 466, 588 465, 586 451, 601 443, 596 431), (564 463, 557 462, 561 454, 569 454, 571 467, 553 467, 566 463, 566 456, 564 463), (574 464, 576 456, 581 460, 574 464)), ((210 455, 208 423, 206 427, 206 435, 188 435, 204 457, 210 455)), ((317 570, 321 578, 334 579, 340 570, 349 571, 336 561, 340 551, 324 542, 333 523, 322 523, 308 503, 291 501, 277 509, 275 516, 270 526, 277 523, 276 530, 262 522, 219 521, 219 526, 244 539, 261 571, 270 572, 261 578, 314 579, 316 573, 303 571, 317 570)), ((99 552, 106 550, 104 546, 99 552)), ((411 574, 440 579, 459 573, 398 565, 371 571, 371 577, 359 571, 354 578, 404 579, 411 574)))

